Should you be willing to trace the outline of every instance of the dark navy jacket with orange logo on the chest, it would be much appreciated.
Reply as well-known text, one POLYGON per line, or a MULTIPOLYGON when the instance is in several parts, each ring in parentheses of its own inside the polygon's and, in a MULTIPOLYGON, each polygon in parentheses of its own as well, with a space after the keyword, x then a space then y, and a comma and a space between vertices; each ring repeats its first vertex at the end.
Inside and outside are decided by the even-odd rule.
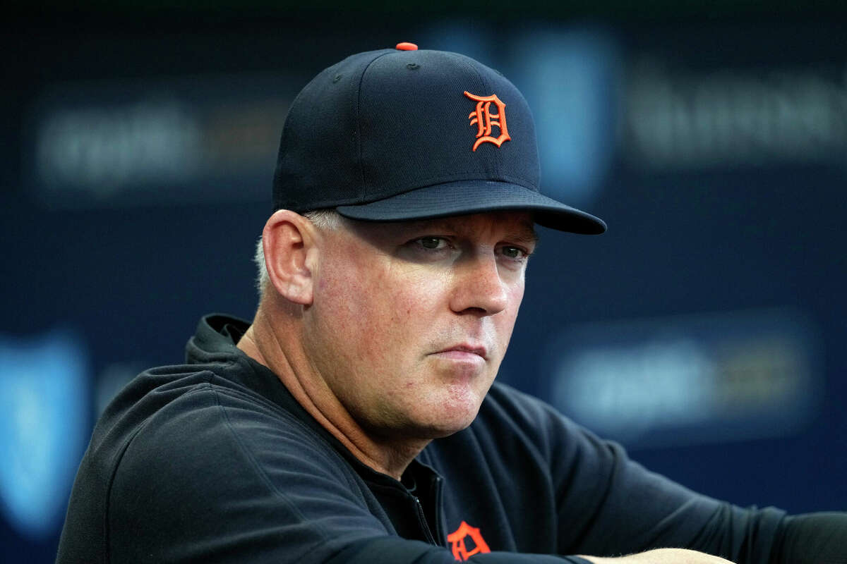
POLYGON ((781 539, 783 512, 686 490, 499 384, 398 482, 235 348, 245 330, 204 318, 186 364, 147 370, 113 400, 80 464, 59 562, 575 563, 552 555, 673 546, 766 564, 781 539))

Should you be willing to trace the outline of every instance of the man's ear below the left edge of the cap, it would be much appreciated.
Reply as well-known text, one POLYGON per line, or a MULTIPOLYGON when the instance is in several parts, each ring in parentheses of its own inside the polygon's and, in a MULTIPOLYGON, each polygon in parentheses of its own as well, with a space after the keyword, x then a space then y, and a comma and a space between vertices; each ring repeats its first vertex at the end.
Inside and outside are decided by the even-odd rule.
POLYGON ((306 258, 315 249, 317 236, 312 222, 289 210, 275 211, 262 232, 270 282, 295 304, 312 304, 314 278, 306 258))

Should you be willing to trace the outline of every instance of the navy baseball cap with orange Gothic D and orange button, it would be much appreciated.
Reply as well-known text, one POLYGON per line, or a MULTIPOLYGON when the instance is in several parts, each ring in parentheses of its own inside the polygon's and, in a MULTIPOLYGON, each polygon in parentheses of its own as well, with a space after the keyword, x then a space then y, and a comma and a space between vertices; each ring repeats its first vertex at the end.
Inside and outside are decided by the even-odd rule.
POLYGON ((606 223, 540 194, 532 112, 502 74, 458 53, 357 53, 291 104, 274 173, 274 210, 335 208, 396 222, 529 211, 545 227, 606 223))

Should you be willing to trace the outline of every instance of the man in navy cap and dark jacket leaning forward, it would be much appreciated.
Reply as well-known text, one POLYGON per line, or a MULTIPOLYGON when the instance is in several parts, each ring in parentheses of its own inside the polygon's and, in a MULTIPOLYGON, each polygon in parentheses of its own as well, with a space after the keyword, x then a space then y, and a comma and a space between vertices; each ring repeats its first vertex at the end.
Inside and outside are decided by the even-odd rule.
POLYGON ((401 43, 324 70, 286 118, 252 325, 204 318, 115 398, 58 561, 843 562, 844 515, 699 496, 494 384, 533 224, 606 228, 538 187, 492 69, 401 43))

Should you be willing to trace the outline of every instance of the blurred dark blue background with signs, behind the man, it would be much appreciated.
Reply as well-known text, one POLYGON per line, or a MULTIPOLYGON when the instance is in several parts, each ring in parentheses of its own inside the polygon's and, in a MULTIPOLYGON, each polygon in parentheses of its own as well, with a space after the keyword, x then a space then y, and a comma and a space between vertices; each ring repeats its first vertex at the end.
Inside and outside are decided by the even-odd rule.
POLYGON ((179 363, 201 315, 252 316, 252 248, 297 91, 398 41, 512 79, 543 190, 609 224, 542 230, 501 379, 695 490, 847 510, 838 8, 17 8, 0 38, 3 561, 53 561, 120 386, 179 363))

